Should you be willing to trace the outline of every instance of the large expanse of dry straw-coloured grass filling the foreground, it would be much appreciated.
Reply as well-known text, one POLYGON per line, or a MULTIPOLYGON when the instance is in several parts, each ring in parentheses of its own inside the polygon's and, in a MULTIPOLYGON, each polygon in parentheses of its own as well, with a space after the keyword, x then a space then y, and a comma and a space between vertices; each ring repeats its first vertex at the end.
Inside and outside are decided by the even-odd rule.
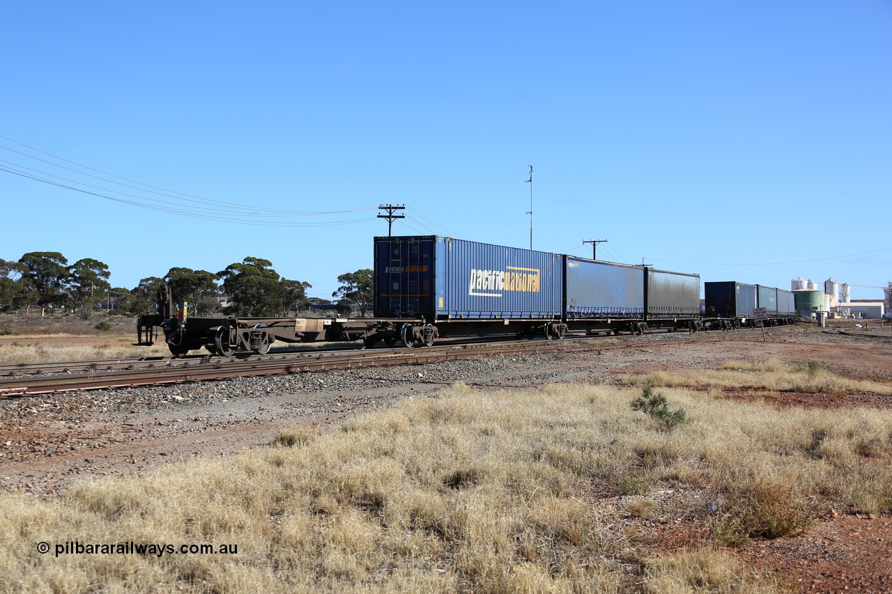
MULTIPOLYGON (((727 518, 719 542, 801 531, 813 496, 889 506, 888 412, 780 414, 667 388, 690 411, 669 432, 629 407, 635 392, 458 384, 232 458, 84 483, 49 503, 3 496, 0 590, 620 591, 640 586, 610 514, 645 516, 666 486, 712 494, 703 522, 727 518), (595 484, 636 497, 616 505, 595 484), (69 540, 238 554, 35 552, 69 540)), ((651 591, 765 585, 712 549, 644 565, 651 591)))

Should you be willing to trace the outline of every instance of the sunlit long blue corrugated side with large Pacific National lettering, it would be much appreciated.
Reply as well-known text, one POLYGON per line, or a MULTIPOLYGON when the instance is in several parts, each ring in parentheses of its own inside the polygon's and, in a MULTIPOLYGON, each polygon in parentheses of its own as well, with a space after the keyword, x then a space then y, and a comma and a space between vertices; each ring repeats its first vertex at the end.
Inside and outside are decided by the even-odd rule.
POLYGON ((559 318, 560 254, 436 238, 438 318, 559 318))

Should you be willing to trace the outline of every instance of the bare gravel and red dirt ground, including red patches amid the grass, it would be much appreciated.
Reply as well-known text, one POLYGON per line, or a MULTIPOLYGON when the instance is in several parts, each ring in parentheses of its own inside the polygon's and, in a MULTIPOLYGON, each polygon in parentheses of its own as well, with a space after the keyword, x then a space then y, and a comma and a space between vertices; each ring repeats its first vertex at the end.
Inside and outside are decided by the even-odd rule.
MULTIPOLYGON (((882 330, 888 332, 888 328, 882 330)), ((727 359, 821 360, 841 375, 892 383, 892 342, 875 335, 827 334, 811 325, 760 331, 603 338, 603 348, 548 355, 460 359, 405 367, 223 380, 0 400, 0 490, 52 498, 75 480, 145 472, 199 456, 267 444, 287 425, 334 425, 409 397, 432 396, 461 381, 534 388, 613 381, 620 373, 714 367, 727 359), (665 342, 682 338, 682 342, 665 342), (721 340, 717 340, 720 338, 721 340), (612 346, 620 343, 621 347, 612 346)), ((729 394, 733 397, 733 393, 729 394)), ((889 408, 858 395, 809 406, 889 408)), ((773 402, 802 406, 797 395, 773 402)), ((696 494, 665 491, 666 498, 696 494)), ((674 507, 677 509, 683 508, 674 507)), ((668 516, 667 516, 668 517, 668 516)), ((706 538, 687 516, 636 524, 638 546, 674 550, 706 538)), ((747 565, 768 569, 797 590, 892 590, 892 517, 819 518, 796 539, 751 541, 747 565)))

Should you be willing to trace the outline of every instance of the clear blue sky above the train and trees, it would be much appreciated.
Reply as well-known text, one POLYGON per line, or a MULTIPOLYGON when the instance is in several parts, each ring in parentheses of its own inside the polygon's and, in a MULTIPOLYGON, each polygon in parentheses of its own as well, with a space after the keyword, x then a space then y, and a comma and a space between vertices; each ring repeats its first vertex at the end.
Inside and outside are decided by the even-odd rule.
POLYGON ((253 256, 330 297, 382 203, 397 235, 529 247, 532 164, 537 250, 892 280, 888 1, 37 0, 0 51, 0 168, 106 196, 0 170, 5 260, 132 288, 253 256))

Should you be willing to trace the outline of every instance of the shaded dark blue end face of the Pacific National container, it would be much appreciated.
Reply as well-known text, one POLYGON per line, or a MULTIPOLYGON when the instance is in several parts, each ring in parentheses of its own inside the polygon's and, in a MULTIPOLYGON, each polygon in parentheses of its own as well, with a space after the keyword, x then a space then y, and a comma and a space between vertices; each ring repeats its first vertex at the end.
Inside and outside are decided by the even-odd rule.
POLYGON ((376 318, 434 316, 436 237, 375 238, 376 318))

